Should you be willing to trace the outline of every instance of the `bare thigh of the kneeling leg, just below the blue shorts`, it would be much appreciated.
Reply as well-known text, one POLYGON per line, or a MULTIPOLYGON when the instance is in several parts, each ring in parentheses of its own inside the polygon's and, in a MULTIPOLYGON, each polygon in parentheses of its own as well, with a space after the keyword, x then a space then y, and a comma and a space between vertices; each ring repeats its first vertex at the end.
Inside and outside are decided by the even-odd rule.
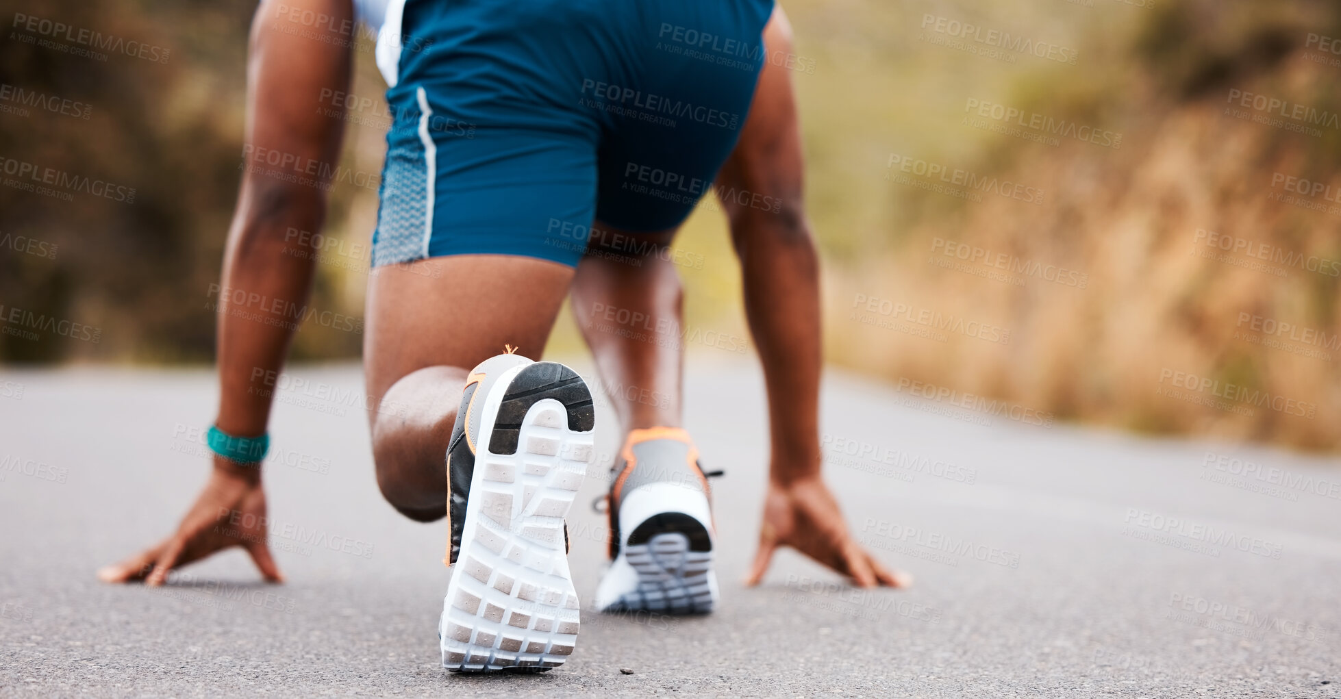
POLYGON ((371 407, 428 366, 469 370, 504 352, 539 358, 573 268, 514 255, 452 255, 378 267, 369 278, 363 370, 371 407))

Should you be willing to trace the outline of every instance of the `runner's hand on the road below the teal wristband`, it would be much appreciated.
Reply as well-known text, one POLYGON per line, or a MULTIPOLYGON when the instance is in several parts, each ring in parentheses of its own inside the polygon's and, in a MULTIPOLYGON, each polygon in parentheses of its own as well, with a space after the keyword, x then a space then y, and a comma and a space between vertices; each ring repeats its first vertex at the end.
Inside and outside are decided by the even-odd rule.
POLYGON ((103 582, 143 580, 146 585, 157 586, 168 580, 169 570, 232 546, 245 549, 266 580, 284 580, 266 542, 266 491, 260 479, 215 468, 176 534, 98 570, 98 578, 103 582))

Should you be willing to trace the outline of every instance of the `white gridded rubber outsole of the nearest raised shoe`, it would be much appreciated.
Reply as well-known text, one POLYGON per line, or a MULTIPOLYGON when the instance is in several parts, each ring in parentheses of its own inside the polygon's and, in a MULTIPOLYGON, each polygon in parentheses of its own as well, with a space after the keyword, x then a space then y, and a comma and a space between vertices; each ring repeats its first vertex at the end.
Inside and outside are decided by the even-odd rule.
POLYGON ((503 374, 484 401, 461 547, 439 621, 448 669, 548 669, 577 641, 563 518, 586 475, 593 433, 570 431, 565 405, 543 398, 526 413, 516 453, 489 452, 499 405, 522 369, 503 374))

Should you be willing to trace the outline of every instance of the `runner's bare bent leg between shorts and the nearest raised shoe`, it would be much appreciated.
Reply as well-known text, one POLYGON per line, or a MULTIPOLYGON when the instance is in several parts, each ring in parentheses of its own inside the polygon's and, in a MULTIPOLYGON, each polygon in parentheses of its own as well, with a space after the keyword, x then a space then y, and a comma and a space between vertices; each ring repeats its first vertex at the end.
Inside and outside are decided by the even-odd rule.
POLYGON ((538 358, 571 279, 566 264, 512 255, 377 268, 363 368, 377 483, 402 514, 447 514, 445 456, 467 372, 504 345, 538 358))

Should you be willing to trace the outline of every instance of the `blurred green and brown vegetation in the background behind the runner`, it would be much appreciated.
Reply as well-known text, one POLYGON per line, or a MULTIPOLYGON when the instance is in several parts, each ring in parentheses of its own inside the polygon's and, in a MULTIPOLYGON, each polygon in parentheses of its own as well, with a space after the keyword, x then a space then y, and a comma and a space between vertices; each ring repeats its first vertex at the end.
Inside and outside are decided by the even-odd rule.
MULTIPOLYGON (((30 13, 162 47, 164 63, 99 62, 0 38, 0 83, 87 103, 87 119, 0 113, 0 156, 135 188, 134 204, 60 201, 0 186, 0 237, 56 244, 54 259, 0 248, 0 305, 103 329, 98 343, 0 335, 5 362, 205 362, 237 191, 247 27, 252 0, 115 5, 5 0, 30 13)), ((1243 310, 1336 331, 1337 279, 1273 279, 1192 258, 1198 228, 1341 258, 1338 219, 1267 201, 1274 172, 1341 186, 1338 131, 1309 137, 1224 115, 1228 90, 1341 109, 1341 58, 1306 47, 1341 36, 1334 1, 1050 0, 1046 3, 784 3, 807 158, 807 207, 826 266, 826 347, 833 361, 1000 396, 1058 417, 1334 448, 1337 361, 1234 339, 1243 310), (1075 64, 1027 54, 992 59, 937 43, 936 17, 1077 51, 1075 64), (929 40, 931 39, 931 40, 929 40), (1122 148, 1014 138, 964 122, 968 101, 1008 105, 1121 133, 1122 148), (886 178, 902 154, 1046 192, 1045 205, 975 203, 886 178), (1084 291, 1007 286, 927 263, 952 239, 1089 274, 1084 291), (849 321, 856 295, 924 303, 1012 330, 1008 345, 944 342, 849 321), (1155 396, 1160 368, 1223 377, 1318 405, 1318 417, 1254 417, 1155 396)), ((943 36, 941 36, 943 38, 943 36)), ((370 46, 353 91, 380 97, 370 46)), ((0 102, 3 103, 3 102, 0 102)), ((375 172, 384 133, 350 125, 342 165, 375 172)), ((327 235, 370 237, 375 193, 341 185, 327 235)), ((691 326, 746 334, 739 274, 721 215, 700 205, 679 247, 691 326)), ((312 303, 361 315, 366 270, 322 264, 312 303)), ((304 326, 298 360, 353 358, 359 337, 304 326)), ((551 341, 581 352, 569 318, 551 341)))

